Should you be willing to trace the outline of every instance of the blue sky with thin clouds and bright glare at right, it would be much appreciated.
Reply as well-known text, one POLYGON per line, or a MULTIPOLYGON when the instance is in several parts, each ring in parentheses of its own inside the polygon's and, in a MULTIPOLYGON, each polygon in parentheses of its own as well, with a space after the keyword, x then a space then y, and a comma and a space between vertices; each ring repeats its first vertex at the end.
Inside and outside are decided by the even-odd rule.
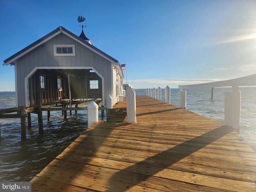
MULTIPOLYGON (((0 0, 2 64, 59 26, 79 36, 79 15, 134 88, 256 73, 255 0, 0 0)), ((14 66, 0 65, 0 91, 14 91, 14 79, 14 66)))

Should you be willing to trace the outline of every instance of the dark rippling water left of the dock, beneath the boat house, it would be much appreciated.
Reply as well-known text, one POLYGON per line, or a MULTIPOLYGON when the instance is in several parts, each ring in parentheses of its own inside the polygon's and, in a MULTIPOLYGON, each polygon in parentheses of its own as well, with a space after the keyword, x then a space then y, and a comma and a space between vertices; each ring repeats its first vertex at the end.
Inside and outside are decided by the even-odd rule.
MULTIPOLYGON (((0 108, 15 107, 15 93, 0 92, 0 108)), ((100 118, 100 115, 99 115, 100 118)), ((43 112, 44 134, 38 133, 37 115, 32 130, 20 141, 20 119, 0 119, 0 181, 30 181, 87 128, 87 111, 64 120, 62 112, 43 112)))

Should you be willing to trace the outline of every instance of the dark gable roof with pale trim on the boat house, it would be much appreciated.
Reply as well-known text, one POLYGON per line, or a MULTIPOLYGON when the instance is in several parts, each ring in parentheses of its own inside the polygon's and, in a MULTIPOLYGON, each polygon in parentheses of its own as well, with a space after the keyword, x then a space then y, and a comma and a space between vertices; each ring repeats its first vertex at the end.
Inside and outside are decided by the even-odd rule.
POLYGON ((52 32, 48 33, 46 36, 40 38, 39 40, 35 41, 34 43, 30 44, 29 46, 27 46, 26 48, 20 50, 19 52, 17 52, 16 54, 10 56, 8 59, 4 60, 4 64, 3 65, 14 65, 15 61, 22 57, 23 55, 25 55, 26 53, 30 52, 31 50, 33 50, 34 48, 40 46, 41 44, 43 44, 44 42, 50 40, 51 38, 53 38, 54 36, 60 34, 60 33, 64 33, 67 36, 69 36, 70 38, 76 40, 77 42, 79 42, 80 44, 83 44, 84 46, 86 46, 87 48, 89 48, 90 50, 96 52, 97 54, 101 55, 102 57, 106 58, 107 60, 109 60, 110 62, 119 65, 118 60, 114 59, 113 57, 109 56, 108 54, 106 54, 105 52, 103 52, 102 50, 96 48, 95 46, 93 46, 92 44, 90 44, 89 42, 87 42, 86 40, 82 39, 79 36, 76 36, 75 34, 73 34, 72 32, 70 32, 69 30, 67 30, 66 28, 60 26, 58 28, 56 28, 55 30, 53 30, 52 32))

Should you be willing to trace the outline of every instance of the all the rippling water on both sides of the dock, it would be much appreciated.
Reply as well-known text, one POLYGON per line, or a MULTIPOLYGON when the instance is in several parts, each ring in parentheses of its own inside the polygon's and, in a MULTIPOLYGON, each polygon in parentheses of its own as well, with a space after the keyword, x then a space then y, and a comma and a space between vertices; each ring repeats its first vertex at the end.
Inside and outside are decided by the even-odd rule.
MULTIPOLYGON (((227 88, 188 89, 187 110, 224 121, 224 91, 227 88)), ((171 89, 171 104, 178 106, 178 89, 171 89)), ((256 146, 256 87, 240 88, 241 126, 240 134, 252 147, 256 146)), ((137 95, 144 91, 136 90, 137 95)), ((156 94, 157 96, 157 94, 156 94)), ((162 100, 165 100, 162 90, 162 100)), ((15 107, 15 93, 0 92, 0 108, 15 107)), ((38 133, 37 116, 32 114, 32 130, 26 133, 27 141, 20 141, 20 119, 0 119, 0 181, 30 181, 72 141, 87 128, 87 111, 67 120, 61 112, 51 112, 47 122, 47 112, 43 112, 44 134, 38 133)), ((99 115, 100 118, 100 115, 99 115)), ((105 120, 105 119, 103 119, 105 120)))

